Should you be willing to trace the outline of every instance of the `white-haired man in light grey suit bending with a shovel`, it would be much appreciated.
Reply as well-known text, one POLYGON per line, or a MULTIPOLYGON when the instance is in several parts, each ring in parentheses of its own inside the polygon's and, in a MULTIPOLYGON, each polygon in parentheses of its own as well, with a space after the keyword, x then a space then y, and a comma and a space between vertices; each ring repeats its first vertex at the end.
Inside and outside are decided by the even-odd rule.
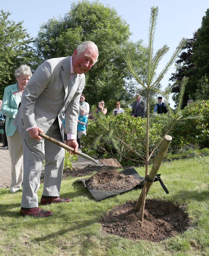
POLYGON ((64 140, 62 120, 65 111, 67 144, 78 149, 76 141, 79 101, 85 73, 96 63, 98 48, 90 41, 79 45, 71 57, 50 59, 34 72, 22 95, 14 125, 22 135, 24 177, 21 214, 46 217, 53 213, 38 207, 37 189, 45 159, 42 205, 70 202, 60 198, 65 150, 42 139, 39 132, 64 140))

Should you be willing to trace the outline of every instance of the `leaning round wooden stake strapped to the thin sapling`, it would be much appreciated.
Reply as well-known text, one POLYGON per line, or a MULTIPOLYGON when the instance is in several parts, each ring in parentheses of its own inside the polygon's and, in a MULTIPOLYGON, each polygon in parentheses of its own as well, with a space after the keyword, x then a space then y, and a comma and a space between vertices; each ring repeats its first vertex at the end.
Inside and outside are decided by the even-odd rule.
MULTIPOLYGON (((152 181, 147 180, 147 181, 144 182, 144 186, 146 186, 146 196, 147 196, 147 194, 148 194, 148 192, 150 190, 151 185, 153 184, 153 180, 154 180, 154 178, 155 178, 155 176, 156 176, 156 174, 157 174, 157 172, 158 172, 158 170, 160 168, 162 160, 163 160, 163 158, 165 157, 165 155, 166 155, 166 153, 168 151, 168 148, 169 148, 171 140, 172 140, 172 137, 169 136, 169 135, 166 135, 164 137, 163 141, 162 141, 161 147, 160 147, 160 149, 158 151, 158 154, 157 154, 157 156, 155 158, 155 161, 153 163, 153 167, 152 167, 152 169, 151 169, 151 171, 150 171, 150 173, 148 175, 149 180, 152 180, 152 181)), ((143 190, 142 190, 142 192, 143 192, 143 190)), ((141 208, 142 197, 143 197, 143 193, 142 192, 141 192, 141 194, 140 194, 140 196, 138 198, 137 204, 135 206, 135 210, 136 211, 139 211, 140 208, 141 208)))

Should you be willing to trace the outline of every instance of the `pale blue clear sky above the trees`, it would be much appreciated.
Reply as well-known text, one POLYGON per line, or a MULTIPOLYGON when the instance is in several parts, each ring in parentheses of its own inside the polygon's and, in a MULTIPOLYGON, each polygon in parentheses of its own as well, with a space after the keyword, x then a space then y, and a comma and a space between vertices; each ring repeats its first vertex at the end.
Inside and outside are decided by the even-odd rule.
MULTIPOLYGON (((63 17, 71 8, 71 3, 78 1, 70 0, 7 0, 1 1, 0 9, 10 11, 9 19, 15 22, 24 21, 24 27, 30 36, 35 37, 42 23, 52 17, 63 17)), ((92 2, 92 1, 90 1, 92 2)), ((148 29, 150 9, 152 6, 159 7, 157 28, 155 32, 154 50, 163 45, 170 47, 169 52, 161 61, 159 72, 167 64, 181 38, 192 38, 193 33, 201 27, 202 17, 209 8, 208 0, 100 0, 105 6, 116 9, 118 14, 130 25, 132 32, 131 40, 136 42, 143 40, 144 45, 148 43, 148 29)), ((169 83, 174 65, 162 80, 162 86, 169 83)), ((173 102, 170 100, 171 106, 173 102)))

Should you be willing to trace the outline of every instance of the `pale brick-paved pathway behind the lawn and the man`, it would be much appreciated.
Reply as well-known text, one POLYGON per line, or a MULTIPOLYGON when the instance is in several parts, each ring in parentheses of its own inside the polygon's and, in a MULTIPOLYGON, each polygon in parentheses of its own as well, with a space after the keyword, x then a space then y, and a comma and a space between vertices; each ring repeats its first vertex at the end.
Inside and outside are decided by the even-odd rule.
MULTIPOLYGON (((78 161, 74 162, 73 167, 84 168, 93 162, 78 156, 78 161)), ((2 147, 0 142, 0 188, 9 188, 11 182, 11 161, 9 151, 2 147)))

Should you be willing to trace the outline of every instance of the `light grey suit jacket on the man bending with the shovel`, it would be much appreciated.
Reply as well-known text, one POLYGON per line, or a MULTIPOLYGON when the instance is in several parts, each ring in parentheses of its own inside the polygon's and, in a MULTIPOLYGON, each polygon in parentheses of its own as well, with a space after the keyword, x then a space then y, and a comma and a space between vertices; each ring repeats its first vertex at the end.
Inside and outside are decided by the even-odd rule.
MULTIPOLYGON (((26 128, 36 125, 46 133, 63 111, 66 115, 66 133, 77 133, 79 100, 85 85, 85 75, 74 74, 70 82, 70 58, 43 62, 29 80, 14 120, 22 136, 26 128)), ((63 136, 61 119, 59 124, 63 136)))

